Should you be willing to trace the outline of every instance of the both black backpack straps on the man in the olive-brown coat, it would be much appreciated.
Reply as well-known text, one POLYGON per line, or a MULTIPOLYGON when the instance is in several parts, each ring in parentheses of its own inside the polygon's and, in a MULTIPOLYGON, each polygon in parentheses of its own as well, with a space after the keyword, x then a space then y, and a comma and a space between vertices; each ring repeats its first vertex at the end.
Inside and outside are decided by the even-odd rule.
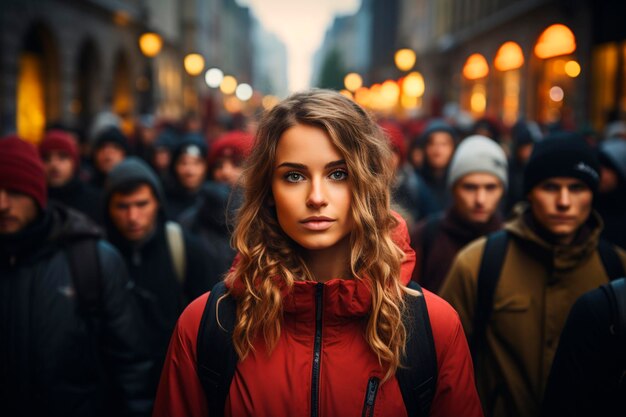
MULTIPOLYGON (((486 343, 486 331, 491 313, 493 298, 500 279, 500 272, 506 256, 510 234, 505 229, 490 234, 478 270, 476 288, 476 309, 474 311, 474 334, 470 340, 472 359, 476 362, 476 353, 486 343)), ((604 239, 598 242, 598 252, 604 269, 610 280, 624 276, 624 266, 613 245, 604 239)))

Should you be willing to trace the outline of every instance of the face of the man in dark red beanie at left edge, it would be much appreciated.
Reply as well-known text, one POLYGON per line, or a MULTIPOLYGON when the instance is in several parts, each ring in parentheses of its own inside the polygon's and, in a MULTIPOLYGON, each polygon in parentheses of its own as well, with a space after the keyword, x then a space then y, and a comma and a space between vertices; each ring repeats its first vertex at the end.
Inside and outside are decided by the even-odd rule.
POLYGON ((0 235, 17 233, 39 213, 35 200, 22 193, 0 188, 0 235))

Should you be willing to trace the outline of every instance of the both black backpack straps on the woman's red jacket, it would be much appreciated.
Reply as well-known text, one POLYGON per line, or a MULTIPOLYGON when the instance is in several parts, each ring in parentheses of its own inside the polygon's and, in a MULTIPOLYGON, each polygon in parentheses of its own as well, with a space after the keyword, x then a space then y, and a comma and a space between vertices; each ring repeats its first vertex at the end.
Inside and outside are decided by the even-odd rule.
MULTIPOLYGON (((409 288, 421 292, 411 281, 409 288)), ((408 317, 418 320, 404 322, 408 329, 405 365, 398 368, 396 378, 409 417, 429 415, 437 384, 437 356, 424 297, 409 298, 408 317)), ((237 366, 237 354, 232 342, 237 304, 228 295, 224 282, 217 283, 209 294, 197 339, 196 371, 207 398, 209 415, 223 416, 224 405, 237 366), (219 300, 219 305, 218 305, 219 300), (219 307, 219 323, 217 308, 219 307)))

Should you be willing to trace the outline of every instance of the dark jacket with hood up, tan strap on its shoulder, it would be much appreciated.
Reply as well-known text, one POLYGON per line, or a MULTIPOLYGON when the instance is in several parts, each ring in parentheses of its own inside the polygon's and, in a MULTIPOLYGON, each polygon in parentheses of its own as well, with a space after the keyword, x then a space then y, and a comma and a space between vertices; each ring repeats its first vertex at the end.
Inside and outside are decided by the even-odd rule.
POLYGON ((149 185, 159 202, 154 231, 140 242, 129 241, 117 230, 108 210, 105 226, 109 240, 126 262, 135 285, 134 294, 147 323, 147 340, 157 364, 152 375, 156 391, 160 366, 176 320, 189 301, 211 288, 208 277, 213 266, 206 262, 198 239, 183 231, 185 277, 182 283, 179 281, 165 231, 163 190, 156 174, 142 160, 126 158, 111 171, 105 188, 105 207, 119 187, 135 182, 149 185))

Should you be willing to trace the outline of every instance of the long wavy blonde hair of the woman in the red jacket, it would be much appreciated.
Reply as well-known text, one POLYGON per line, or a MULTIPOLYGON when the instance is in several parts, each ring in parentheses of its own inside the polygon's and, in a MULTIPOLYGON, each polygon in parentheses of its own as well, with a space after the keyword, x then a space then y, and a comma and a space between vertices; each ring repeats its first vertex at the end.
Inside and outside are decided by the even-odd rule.
POLYGON ((254 350, 253 341, 260 332, 271 352, 281 332, 282 294, 295 281, 313 279, 269 203, 278 141, 297 124, 322 129, 345 158, 354 218, 350 269, 354 279, 366 280, 371 288, 365 337, 386 367, 388 379, 401 366, 407 335, 402 323, 405 288, 399 282, 403 252, 391 238, 398 224, 389 202, 391 150, 378 125, 360 106, 328 90, 294 94, 260 122, 242 176, 244 202, 233 232, 239 261, 226 276, 231 288, 235 281, 244 288, 237 294, 235 350, 243 360, 254 350))

